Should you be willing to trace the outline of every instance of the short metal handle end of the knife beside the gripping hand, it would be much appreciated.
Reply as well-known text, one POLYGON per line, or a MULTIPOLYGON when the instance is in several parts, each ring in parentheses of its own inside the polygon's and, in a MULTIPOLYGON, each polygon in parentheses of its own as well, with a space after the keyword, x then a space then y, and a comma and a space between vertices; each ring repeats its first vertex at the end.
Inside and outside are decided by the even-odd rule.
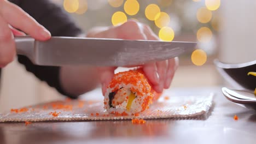
POLYGON ((15 37, 16 52, 18 55, 24 55, 33 60, 34 42, 30 36, 15 37))

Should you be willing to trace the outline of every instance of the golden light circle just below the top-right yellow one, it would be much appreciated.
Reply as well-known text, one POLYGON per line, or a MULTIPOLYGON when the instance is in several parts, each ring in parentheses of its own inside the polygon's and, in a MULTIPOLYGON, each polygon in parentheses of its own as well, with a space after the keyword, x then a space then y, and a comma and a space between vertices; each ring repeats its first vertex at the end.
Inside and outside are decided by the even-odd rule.
POLYGON ((207 8, 197 9, 196 18, 201 23, 207 23, 212 19, 212 11, 207 8))

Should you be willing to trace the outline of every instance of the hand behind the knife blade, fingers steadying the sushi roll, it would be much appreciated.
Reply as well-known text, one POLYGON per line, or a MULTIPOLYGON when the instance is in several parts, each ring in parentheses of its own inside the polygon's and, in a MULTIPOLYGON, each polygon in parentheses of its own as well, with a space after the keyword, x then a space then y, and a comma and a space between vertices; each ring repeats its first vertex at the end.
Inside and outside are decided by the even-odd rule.
MULTIPOLYGON (((133 20, 125 22, 123 25, 115 27, 97 27, 88 32, 87 37, 92 38, 118 38, 130 40, 159 40, 149 26, 133 20)), ((178 66, 178 58, 168 59, 166 61, 147 63, 140 65, 148 80, 153 85, 156 92, 161 93, 163 89, 169 88, 178 66)), ((114 70, 117 67, 101 67, 100 81, 103 94, 111 81, 114 70)))

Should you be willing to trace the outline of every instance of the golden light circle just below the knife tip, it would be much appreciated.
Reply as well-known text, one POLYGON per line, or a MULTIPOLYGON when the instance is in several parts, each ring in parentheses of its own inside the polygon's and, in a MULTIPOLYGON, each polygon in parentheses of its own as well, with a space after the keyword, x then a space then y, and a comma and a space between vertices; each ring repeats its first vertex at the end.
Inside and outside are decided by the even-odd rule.
POLYGON ((206 52, 200 49, 193 51, 191 55, 191 61, 197 66, 205 64, 205 62, 207 61, 206 52))

